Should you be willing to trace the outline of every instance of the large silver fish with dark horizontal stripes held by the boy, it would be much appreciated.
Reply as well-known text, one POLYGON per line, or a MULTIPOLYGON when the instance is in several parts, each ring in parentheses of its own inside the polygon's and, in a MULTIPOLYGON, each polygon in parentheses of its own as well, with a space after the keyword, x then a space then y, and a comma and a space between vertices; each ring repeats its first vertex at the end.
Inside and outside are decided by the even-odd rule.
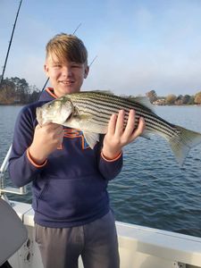
POLYGON ((128 121, 130 109, 134 109, 135 127, 140 117, 146 122, 141 136, 149 138, 157 134, 165 138, 173 155, 183 165, 189 150, 201 143, 201 133, 188 130, 158 116, 147 96, 124 97, 100 91, 81 91, 67 94, 37 108, 37 120, 40 126, 54 122, 63 126, 81 130, 88 146, 92 149, 99 141, 99 135, 107 132, 108 122, 113 113, 124 110, 124 126, 128 121))

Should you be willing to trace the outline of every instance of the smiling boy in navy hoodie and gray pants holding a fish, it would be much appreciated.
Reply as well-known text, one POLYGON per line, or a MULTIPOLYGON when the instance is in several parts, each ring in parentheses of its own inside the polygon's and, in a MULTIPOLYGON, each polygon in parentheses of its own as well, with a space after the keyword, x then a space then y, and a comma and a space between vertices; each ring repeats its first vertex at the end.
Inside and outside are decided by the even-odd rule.
POLYGON ((88 52, 82 41, 60 34, 46 45, 47 88, 37 103, 24 107, 16 121, 10 176, 18 187, 32 181, 36 240, 44 267, 117 268, 120 265, 113 213, 107 184, 121 172, 121 147, 144 130, 130 111, 126 128, 124 112, 113 114, 103 142, 92 150, 80 130, 55 123, 42 127, 36 108, 54 98, 80 91, 88 77, 88 52))

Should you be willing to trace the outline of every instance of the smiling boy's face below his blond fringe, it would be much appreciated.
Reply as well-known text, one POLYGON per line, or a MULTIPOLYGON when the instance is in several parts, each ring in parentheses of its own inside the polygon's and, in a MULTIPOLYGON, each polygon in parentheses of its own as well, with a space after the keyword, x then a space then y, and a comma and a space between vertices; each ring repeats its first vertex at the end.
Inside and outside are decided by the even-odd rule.
POLYGON ((79 92, 83 80, 88 76, 86 64, 72 63, 67 60, 62 63, 55 55, 46 58, 44 68, 54 88, 54 94, 58 97, 79 92))

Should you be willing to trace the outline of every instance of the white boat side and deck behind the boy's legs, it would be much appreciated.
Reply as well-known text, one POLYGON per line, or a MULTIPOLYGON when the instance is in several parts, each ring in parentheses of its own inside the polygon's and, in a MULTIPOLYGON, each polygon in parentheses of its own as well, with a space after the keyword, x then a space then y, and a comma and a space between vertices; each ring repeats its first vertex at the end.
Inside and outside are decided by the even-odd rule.
MULTIPOLYGON (((42 268, 34 237, 34 212, 28 204, 15 203, 13 208, 29 230, 29 241, 9 261, 14 268, 42 268)), ((116 226, 121 268, 201 267, 201 238, 122 222, 116 226)))

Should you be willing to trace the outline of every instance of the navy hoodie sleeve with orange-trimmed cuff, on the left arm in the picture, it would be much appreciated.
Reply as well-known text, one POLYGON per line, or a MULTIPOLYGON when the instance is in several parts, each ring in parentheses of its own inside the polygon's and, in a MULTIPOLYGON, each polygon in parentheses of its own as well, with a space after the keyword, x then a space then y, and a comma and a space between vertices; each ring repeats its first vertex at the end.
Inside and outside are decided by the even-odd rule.
POLYGON ((15 122, 8 172, 17 187, 24 186, 34 180, 46 164, 37 166, 29 158, 29 146, 32 143, 37 125, 35 111, 34 106, 24 107, 15 122))

